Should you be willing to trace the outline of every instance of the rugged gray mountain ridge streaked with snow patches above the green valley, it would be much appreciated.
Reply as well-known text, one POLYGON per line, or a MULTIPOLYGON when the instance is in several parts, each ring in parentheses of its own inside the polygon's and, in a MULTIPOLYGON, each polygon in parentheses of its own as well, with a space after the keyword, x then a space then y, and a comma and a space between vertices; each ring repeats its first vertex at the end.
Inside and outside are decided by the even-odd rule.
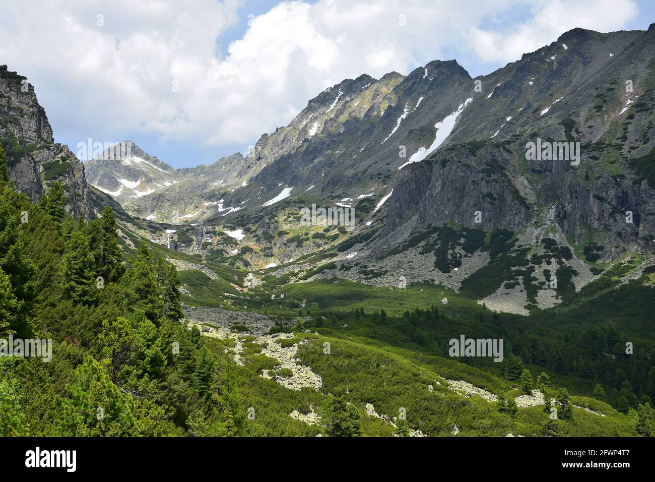
MULTIPOLYGON (((339 245, 335 267, 314 277, 394 286, 404 276, 527 314, 579 292, 603 264, 652 263, 654 35, 578 28, 475 79, 455 60, 361 75, 321 92, 246 157, 175 170, 125 141, 88 161, 86 180, 160 224, 142 235, 168 245, 174 227, 183 251, 224 250, 206 236, 212 226, 244 230, 244 268, 339 245), (528 159, 530 142, 572 142, 578 160, 528 159), (353 208, 355 230, 323 237, 293 220, 312 203, 353 208)), ((31 186, 23 173, 12 169, 31 186)))

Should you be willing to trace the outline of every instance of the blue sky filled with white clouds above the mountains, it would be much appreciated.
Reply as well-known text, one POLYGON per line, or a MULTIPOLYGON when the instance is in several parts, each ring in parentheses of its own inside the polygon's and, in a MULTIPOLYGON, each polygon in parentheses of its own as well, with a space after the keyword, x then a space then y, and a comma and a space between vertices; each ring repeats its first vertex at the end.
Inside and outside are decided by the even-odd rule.
POLYGON ((325 87, 362 73, 406 74, 455 58, 476 76, 576 26, 645 30, 655 20, 650 0, 3 0, 3 7, 0 63, 34 85, 57 142, 75 152, 88 138, 130 139, 173 167, 246 152, 325 87))

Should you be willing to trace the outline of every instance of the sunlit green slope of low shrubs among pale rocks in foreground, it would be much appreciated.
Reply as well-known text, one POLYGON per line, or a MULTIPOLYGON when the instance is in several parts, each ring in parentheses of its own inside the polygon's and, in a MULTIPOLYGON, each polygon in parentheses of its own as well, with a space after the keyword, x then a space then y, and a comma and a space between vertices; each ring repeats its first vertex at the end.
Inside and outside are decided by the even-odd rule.
MULTIPOLYGON (((432 436, 448 436, 456 424, 459 436, 541 435, 548 422, 543 407, 519 409, 516 418, 500 414, 495 403, 479 397, 467 399, 445 388, 444 376, 461 376, 471 382, 486 380, 488 388, 504 392, 509 388, 506 381, 479 372, 449 359, 425 358, 410 350, 398 350, 379 342, 356 338, 337 338, 316 334, 298 334, 309 340, 301 346, 298 357, 303 365, 322 376, 323 393, 348 390, 346 399, 359 409, 362 417, 362 433, 365 436, 390 436, 392 427, 381 420, 367 416, 364 405, 372 403, 379 414, 394 416, 400 408, 407 413, 407 421, 413 428, 432 436), (324 343, 329 342, 331 353, 324 354, 324 343), (415 361, 417 360, 417 361, 415 361), (436 381, 441 382, 441 386, 436 381), (434 386, 434 392, 428 390, 434 386)), ((223 350, 227 340, 212 340, 216 350, 223 350)), ((231 365, 235 376, 234 394, 237 411, 244 414, 238 420, 248 424, 245 414, 255 409, 255 420, 265 427, 269 435, 310 436, 318 433, 316 426, 309 426, 291 418, 293 410, 308 412, 310 405, 320 407, 322 393, 303 388, 300 392, 288 390, 259 376, 261 361, 254 352, 246 355, 246 366, 231 365)), ((269 359, 269 363, 271 362, 269 359)), ((581 409, 574 409, 572 422, 560 422, 562 435, 621 436, 635 435, 628 418, 608 405, 593 399, 574 397, 576 405, 588 404, 601 409, 607 416, 601 417, 581 409)))

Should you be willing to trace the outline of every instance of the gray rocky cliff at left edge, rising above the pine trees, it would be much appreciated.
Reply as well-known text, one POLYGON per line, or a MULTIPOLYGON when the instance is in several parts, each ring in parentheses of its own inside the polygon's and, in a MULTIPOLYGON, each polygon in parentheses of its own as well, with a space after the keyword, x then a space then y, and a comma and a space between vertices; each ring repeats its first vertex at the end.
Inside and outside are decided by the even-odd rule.
POLYGON ((16 190, 37 201, 58 180, 67 198, 65 211, 91 216, 84 167, 67 146, 54 143, 52 128, 28 79, 0 66, 0 142, 16 190))

